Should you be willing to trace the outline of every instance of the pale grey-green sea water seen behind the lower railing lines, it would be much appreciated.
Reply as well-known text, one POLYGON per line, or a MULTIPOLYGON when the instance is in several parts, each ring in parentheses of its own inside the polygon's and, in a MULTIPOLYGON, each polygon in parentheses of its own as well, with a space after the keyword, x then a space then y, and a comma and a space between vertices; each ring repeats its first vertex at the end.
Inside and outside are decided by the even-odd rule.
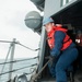
MULTIPOLYGON (((22 59, 15 59, 15 60, 22 60, 22 59)), ((20 77, 23 73, 31 73, 33 71, 32 68, 37 68, 37 66, 34 66, 34 67, 28 67, 28 66, 35 65, 35 63, 37 63, 37 61, 38 61, 38 59, 36 58, 36 59, 32 59, 32 60, 14 62, 13 63, 13 70, 21 69, 21 68, 24 68, 24 67, 27 67, 27 68, 24 68, 24 69, 12 72, 12 79, 16 75, 20 77)), ((0 59, 0 63, 2 63, 2 62, 4 62, 4 60, 0 59)), ((0 65, 0 73, 1 73, 2 67, 3 67, 3 65, 0 65)), ((3 69, 2 73, 8 72, 9 67, 10 67, 10 63, 7 63, 4 66, 4 69, 3 69)), ((31 79, 31 74, 27 74, 26 77, 27 77, 27 80, 31 79)), ((0 75, 0 82, 7 82, 8 80, 9 80, 9 73, 0 75)))

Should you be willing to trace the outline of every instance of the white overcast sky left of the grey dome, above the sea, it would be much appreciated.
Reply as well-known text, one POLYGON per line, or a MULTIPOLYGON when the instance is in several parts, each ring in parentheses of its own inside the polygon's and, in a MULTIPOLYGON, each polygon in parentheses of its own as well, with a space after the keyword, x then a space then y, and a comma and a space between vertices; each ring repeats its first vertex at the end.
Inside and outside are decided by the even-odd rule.
MULTIPOLYGON (((30 11, 38 11, 30 0, 0 0, 0 40, 16 38, 30 48, 38 48, 40 36, 30 30, 25 23, 25 15, 30 11)), ((0 58, 5 58, 10 44, 0 43, 0 58)), ((16 46, 14 58, 35 57, 37 51, 31 51, 16 46)))

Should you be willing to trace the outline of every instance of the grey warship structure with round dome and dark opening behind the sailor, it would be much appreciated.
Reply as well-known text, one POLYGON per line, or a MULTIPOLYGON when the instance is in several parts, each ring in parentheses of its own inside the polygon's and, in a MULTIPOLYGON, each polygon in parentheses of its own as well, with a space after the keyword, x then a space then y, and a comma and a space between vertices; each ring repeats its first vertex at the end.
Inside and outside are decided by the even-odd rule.
MULTIPOLYGON (((49 47, 46 42, 46 32, 43 26, 43 19, 51 16, 56 24, 62 24, 65 28, 68 28, 68 34, 71 39, 77 44, 75 35, 78 31, 82 31, 82 0, 31 0, 35 7, 39 10, 40 15, 37 11, 31 11, 25 16, 25 25, 30 27, 33 32, 40 35, 39 51, 38 51, 38 62, 37 68, 31 72, 31 78, 27 80, 28 73, 23 73, 22 75, 14 77, 13 80, 8 82, 56 82, 56 80, 50 75, 48 69, 49 60, 45 60, 45 57, 49 55, 49 47)), ((15 43, 14 40, 12 43, 15 43)), ((15 43, 20 44, 20 43, 15 43)), ((26 47, 20 44, 23 47, 26 47)), ((77 47, 80 46, 77 44, 77 47)), ((27 47, 26 47, 27 48, 27 47)), ((37 49, 35 49, 37 50, 37 49)), ((81 58, 82 59, 82 58, 81 58)), ((33 67, 32 65, 31 67, 33 67)), ((71 67, 73 70, 67 70, 68 82, 82 82, 82 65, 81 60, 75 60, 71 67)), ((12 67, 11 67, 12 68, 12 67)), ((13 72, 12 70, 9 72, 13 72)))

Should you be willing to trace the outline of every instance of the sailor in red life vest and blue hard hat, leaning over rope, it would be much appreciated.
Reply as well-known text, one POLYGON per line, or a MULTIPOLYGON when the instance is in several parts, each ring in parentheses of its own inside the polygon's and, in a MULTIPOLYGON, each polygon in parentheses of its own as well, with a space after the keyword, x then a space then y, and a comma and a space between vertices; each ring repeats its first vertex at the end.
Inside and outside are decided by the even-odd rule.
POLYGON ((48 65, 50 73, 56 77, 57 82, 68 82, 66 70, 78 57, 78 49, 66 28, 61 24, 55 24, 51 17, 43 20, 43 26, 47 32, 47 42, 50 47, 50 59, 48 65))

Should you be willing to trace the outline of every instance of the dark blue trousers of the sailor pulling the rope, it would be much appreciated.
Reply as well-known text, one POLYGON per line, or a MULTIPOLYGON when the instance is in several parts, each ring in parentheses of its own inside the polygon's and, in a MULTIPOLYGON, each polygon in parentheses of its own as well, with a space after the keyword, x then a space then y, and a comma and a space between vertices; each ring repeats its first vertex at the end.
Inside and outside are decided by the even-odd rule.
POLYGON ((71 63, 77 59, 77 48, 66 49, 52 67, 48 65, 50 73, 52 74, 52 77, 56 77, 57 82, 68 82, 66 70, 71 66, 71 63))

